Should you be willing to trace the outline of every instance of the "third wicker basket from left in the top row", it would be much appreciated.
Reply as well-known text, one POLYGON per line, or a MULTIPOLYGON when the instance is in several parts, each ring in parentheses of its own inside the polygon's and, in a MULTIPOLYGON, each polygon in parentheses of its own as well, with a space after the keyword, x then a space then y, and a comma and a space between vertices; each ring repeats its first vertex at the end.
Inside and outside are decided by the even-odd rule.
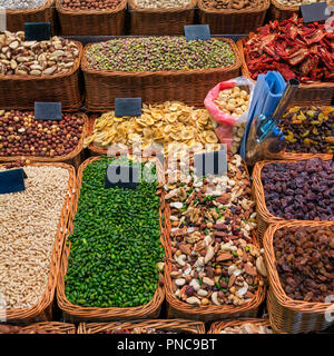
POLYGON ((197 0, 175 9, 147 9, 129 0, 130 34, 183 34, 185 24, 193 24, 197 0))

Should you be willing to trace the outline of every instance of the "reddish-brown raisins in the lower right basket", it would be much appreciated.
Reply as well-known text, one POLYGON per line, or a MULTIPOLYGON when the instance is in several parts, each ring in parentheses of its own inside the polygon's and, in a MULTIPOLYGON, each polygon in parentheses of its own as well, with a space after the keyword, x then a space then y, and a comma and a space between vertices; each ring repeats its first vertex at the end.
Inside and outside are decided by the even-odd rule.
POLYGON ((334 225, 279 229, 274 236, 274 250, 288 297, 324 303, 334 295, 334 225))

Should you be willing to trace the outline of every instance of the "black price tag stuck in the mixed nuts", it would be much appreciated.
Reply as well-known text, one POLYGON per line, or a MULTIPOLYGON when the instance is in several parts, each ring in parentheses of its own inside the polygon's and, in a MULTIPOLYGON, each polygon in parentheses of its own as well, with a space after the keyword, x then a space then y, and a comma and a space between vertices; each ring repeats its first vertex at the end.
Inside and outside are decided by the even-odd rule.
POLYGON ((195 174, 197 177, 208 175, 227 175, 227 151, 226 146, 220 145, 218 151, 203 152, 194 155, 195 174))

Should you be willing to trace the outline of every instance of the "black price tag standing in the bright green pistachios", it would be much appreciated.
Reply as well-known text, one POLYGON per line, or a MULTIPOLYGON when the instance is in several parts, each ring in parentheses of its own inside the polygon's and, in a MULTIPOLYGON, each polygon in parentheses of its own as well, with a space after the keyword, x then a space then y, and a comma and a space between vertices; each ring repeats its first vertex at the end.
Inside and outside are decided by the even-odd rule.
POLYGON ((136 189, 139 182, 138 167, 108 165, 105 188, 136 189))

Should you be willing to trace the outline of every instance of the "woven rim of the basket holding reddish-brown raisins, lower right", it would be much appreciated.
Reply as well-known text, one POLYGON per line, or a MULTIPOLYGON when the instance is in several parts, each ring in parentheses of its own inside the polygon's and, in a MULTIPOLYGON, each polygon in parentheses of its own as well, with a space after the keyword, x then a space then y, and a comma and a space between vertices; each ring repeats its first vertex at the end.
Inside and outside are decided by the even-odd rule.
POLYGON ((332 303, 318 303, 318 301, 304 301, 304 300, 295 300, 292 299, 286 295, 284 291, 279 275, 276 268, 276 258, 274 251, 274 236, 275 233, 279 229, 286 229, 289 227, 330 227, 334 226, 334 221, 284 221, 271 225, 263 238, 263 247, 264 247, 264 255, 268 271, 268 279, 271 285, 271 290, 277 303, 289 310, 297 312, 297 313, 305 313, 305 314, 313 314, 313 313, 324 313, 328 308, 328 306, 334 305, 332 303))

